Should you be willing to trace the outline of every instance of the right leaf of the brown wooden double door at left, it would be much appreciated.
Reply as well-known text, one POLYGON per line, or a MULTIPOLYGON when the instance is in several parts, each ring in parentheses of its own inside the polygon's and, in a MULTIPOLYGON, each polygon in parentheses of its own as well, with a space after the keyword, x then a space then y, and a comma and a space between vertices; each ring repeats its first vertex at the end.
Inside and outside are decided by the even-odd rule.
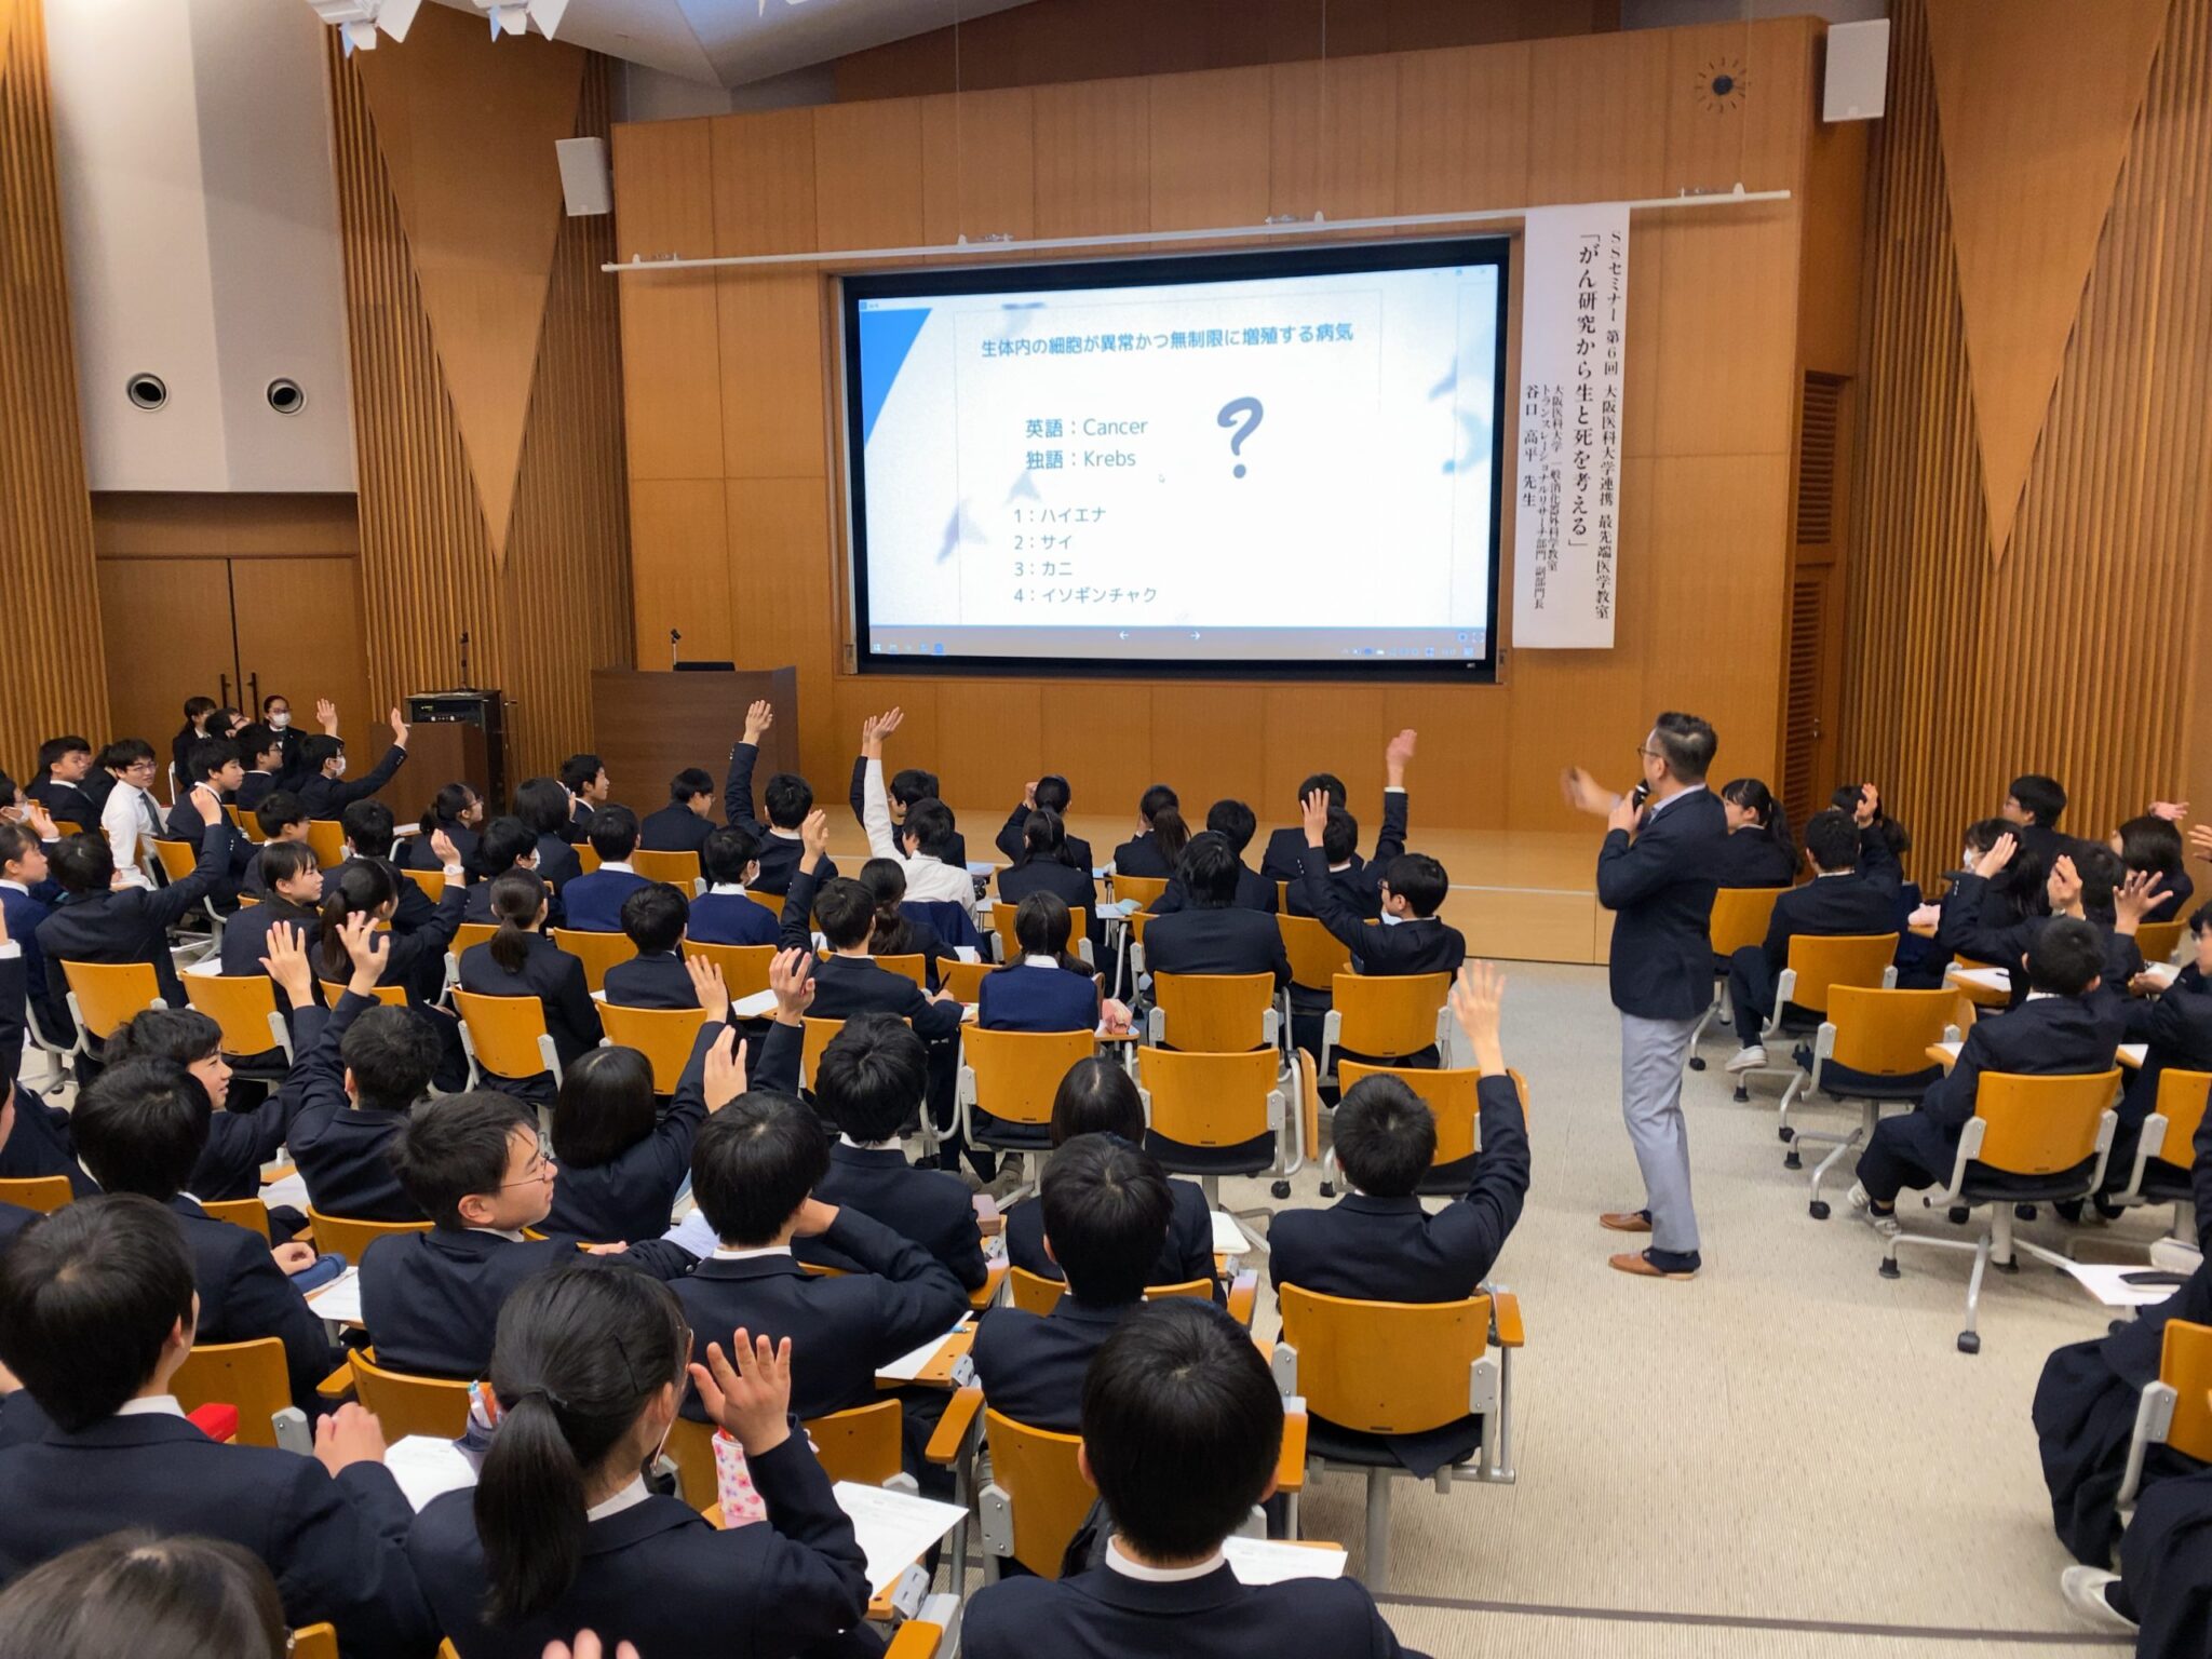
MULTIPOLYGON (((314 732, 314 699, 338 706, 338 734, 352 743, 380 726, 405 686, 369 686, 361 633, 361 566, 349 557, 230 560, 239 672, 259 710, 283 695, 292 723, 314 732)), ((367 765, 367 757, 354 761, 367 765)))

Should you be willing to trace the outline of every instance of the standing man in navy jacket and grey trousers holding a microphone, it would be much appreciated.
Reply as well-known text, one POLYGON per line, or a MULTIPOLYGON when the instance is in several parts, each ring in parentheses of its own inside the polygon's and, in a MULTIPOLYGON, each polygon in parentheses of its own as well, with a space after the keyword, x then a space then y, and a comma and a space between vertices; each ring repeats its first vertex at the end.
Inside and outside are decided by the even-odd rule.
POLYGON ((1648 1232, 1650 1248, 1613 1256, 1626 1274, 1690 1279, 1697 1210, 1681 1064, 1712 1000, 1714 849, 1728 834, 1705 787, 1719 739, 1697 714, 1661 714, 1637 745, 1644 783, 1613 794, 1579 765, 1562 779, 1566 803, 1606 818, 1597 902, 1613 911, 1613 1006, 1621 1011, 1621 1117, 1644 1170, 1644 1208, 1599 1217, 1613 1232, 1648 1232))

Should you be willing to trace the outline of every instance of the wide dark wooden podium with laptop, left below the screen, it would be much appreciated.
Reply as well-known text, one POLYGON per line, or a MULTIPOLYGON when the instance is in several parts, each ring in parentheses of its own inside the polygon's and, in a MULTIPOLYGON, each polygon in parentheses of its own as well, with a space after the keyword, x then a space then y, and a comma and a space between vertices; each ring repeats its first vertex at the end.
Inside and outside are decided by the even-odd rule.
POLYGON ((591 670, 591 730, 615 799, 646 816, 668 805, 668 781, 688 765, 714 779, 714 818, 730 772, 730 745, 745 734, 745 710, 768 699, 776 723, 761 739, 752 770, 754 812, 770 772, 799 770, 799 670, 591 670))

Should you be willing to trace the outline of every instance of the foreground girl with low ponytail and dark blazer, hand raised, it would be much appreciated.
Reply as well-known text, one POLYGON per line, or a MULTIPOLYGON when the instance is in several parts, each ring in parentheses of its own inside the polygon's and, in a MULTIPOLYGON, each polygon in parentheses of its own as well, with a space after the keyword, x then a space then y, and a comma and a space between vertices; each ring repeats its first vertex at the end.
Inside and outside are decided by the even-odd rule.
MULTIPOLYGON (((701 1334, 706 1336, 706 1334, 701 1334)), ((792 1345, 734 1332, 686 1365, 677 1298, 641 1274, 560 1267, 500 1310, 500 1425, 473 1491, 431 1500, 407 1555, 460 1659, 538 1659, 591 1628, 613 1648, 865 1655, 867 1559, 790 1413, 792 1345), (743 1449, 765 1526, 717 1531, 646 1486, 686 1371, 743 1449), (719 1632, 719 1635, 710 1635, 719 1632)))

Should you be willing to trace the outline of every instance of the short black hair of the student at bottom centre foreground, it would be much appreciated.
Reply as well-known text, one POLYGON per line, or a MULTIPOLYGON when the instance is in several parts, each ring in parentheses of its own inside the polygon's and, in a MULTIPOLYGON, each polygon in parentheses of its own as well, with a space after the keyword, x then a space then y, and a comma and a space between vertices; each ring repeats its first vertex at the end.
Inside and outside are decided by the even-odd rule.
POLYGON ((1082 1431, 1115 1531, 1188 1562, 1221 1548, 1274 1480, 1283 1396, 1237 1321, 1164 1296, 1128 1310, 1091 1358, 1082 1431))

